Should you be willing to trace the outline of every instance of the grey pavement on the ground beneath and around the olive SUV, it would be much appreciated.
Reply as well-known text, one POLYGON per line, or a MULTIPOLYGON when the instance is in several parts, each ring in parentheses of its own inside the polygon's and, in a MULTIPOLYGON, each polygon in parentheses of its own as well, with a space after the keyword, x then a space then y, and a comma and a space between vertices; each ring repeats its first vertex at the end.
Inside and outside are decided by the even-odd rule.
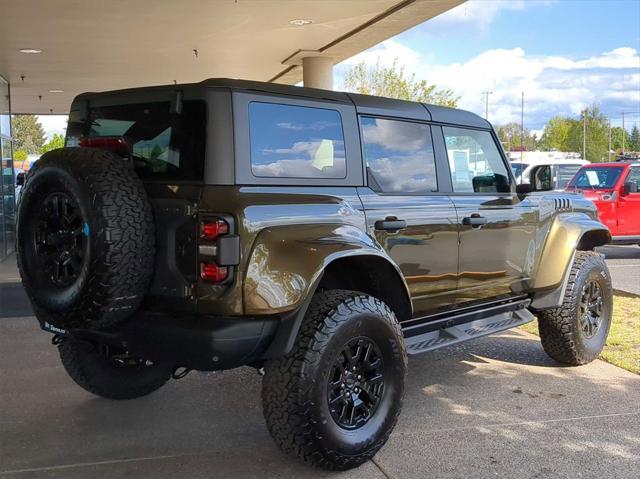
POLYGON ((361 468, 331 474, 273 444, 254 370, 192 373, 133 401, 96 398, 67 377, 32 317, 8 317, 30 314, 19 286, 0 285, 0 299, 0 477, 637 478, 640 470, 640 377, 602 361, 561 367, 521 331, 411 358, 387 445, 361 468))

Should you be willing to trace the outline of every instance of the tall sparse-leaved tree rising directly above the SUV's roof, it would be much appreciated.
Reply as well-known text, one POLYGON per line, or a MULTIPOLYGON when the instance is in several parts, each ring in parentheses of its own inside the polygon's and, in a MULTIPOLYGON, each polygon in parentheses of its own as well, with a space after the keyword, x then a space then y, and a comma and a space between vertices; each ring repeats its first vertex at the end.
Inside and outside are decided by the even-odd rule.
POLYGON ((426 80, 417 80, 415 74, 407 74, 404 67, 398 66, 397 59, 390 67, 379 61, 375 67, 368 67, 364 62, 355 65, 347 72, 344 87, 353 93, 449 107, 456 107, 460 99, 451 90, 439 90, 426 80))

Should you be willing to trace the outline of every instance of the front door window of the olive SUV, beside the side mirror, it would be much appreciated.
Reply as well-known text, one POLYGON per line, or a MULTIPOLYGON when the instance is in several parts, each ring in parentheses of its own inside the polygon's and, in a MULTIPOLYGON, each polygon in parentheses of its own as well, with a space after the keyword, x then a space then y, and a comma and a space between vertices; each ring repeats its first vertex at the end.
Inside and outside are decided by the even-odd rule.
POLYGON ((508 193, 511 176, 488 131, 443 127, 453 191, 508 193))

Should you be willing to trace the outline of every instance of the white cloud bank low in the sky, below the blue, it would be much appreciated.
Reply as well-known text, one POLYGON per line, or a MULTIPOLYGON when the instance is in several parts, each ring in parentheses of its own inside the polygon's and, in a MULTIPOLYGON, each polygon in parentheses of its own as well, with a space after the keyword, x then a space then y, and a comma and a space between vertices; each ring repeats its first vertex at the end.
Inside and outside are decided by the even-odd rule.
POLYGON ((640 109, 640 55, 630 47, 580 59, 532 56, 522 48, 494 49, 466 62, 432 64, 419 52, 388 40, 347 64, 365 61, 373 66, 378 58, 384 65, 398 58, 407 73, 439 88, 450 88, 460 96, 461 108, 481 115, 485 110, 483 92, 493 92, 489 119, 494 124, 520 121, 523 91, 525 124, 532 129, 542 128, 556 114, 576 115, 593 103, 600 103, 609 114, 640 109))

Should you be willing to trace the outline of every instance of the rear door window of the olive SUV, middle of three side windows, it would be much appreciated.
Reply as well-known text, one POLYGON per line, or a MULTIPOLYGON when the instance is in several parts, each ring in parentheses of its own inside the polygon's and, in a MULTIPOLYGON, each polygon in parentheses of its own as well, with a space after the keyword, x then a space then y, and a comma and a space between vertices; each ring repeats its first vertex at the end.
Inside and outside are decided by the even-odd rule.
POLYGON ((428 125, 369 117, 360 121, 372 189, 383 193, 438 190, 428 125))

